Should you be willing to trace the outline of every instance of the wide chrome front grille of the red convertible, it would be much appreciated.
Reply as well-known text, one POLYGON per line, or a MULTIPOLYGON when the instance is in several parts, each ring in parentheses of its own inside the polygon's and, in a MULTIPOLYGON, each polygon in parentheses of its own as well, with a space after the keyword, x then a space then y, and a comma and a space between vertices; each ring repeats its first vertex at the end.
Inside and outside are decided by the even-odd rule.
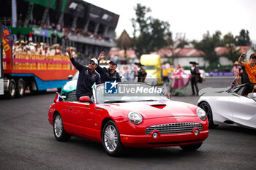
POLYGON ((200 123, 168 123, 162 125, 152 125, 146 128, 146 134, 151 131, 159 131, 160 134, 184 134, 192 132, 194 128, 203 131, 203 125, 200 123))

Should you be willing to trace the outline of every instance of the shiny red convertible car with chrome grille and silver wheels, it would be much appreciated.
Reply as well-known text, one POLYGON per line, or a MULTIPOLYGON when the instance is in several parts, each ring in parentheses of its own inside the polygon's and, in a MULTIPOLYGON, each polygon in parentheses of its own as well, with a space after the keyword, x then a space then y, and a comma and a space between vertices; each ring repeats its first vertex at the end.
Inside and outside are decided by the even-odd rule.
POLYGON ((197 150, 208 137, 206 112, 192 104, 171 101, 160 89, 140 82, 96 85, 93 96, 56 101, 48 120, 58 141, 79 136, 102 142, 111 156, 124 147, 169 147, 197 150), (108 93, 111 92, 111 93, 108 93))

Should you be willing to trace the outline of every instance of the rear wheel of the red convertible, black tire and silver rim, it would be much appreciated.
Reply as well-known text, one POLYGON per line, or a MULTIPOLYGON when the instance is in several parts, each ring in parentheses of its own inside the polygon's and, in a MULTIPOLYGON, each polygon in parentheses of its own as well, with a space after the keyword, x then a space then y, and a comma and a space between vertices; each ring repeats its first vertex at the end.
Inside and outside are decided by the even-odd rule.
POLYGON ((58 141, 67 142, 70 139, 70 135, 66 133, 63 126, 63 120, 61 115, 57 113, 53 117, 53 134, 58 141))

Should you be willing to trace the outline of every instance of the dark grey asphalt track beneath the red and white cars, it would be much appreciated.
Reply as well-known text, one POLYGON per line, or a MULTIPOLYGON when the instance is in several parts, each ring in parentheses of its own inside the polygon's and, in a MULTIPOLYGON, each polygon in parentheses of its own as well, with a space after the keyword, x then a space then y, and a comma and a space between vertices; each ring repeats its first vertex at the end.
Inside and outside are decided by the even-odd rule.
MULTIPOLYGON (((230 77, 210 78, 199 88, 223 88, 230 77)), ((198 96, 171 100, 196 104, 198 96)), ((23 98, 0 99, 0 169, 255 169, 256 131, 219 126, 210 129, 199 150, 185 152, 179 147, 129 149, 120 158, 106 154, 102 144, 72 137, 57 142, 48 123, 48 108, 55 92, 26 94, 23 98)))

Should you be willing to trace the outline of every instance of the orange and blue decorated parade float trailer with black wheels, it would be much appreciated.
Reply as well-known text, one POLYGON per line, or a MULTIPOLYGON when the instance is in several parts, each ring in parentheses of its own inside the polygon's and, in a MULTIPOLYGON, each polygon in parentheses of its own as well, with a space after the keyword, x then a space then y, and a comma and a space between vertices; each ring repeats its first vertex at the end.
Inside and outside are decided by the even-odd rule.
POLYGON ((62 88, 69 75, 76 70, 65 55, 35 55, 17 53, 12 55, 13 38, 7 27, 3 26, 2 42, 4 55, 2 66, 4 72, 4 95, 7 98, 23 96, 26 89, 31 92, 62 88))

